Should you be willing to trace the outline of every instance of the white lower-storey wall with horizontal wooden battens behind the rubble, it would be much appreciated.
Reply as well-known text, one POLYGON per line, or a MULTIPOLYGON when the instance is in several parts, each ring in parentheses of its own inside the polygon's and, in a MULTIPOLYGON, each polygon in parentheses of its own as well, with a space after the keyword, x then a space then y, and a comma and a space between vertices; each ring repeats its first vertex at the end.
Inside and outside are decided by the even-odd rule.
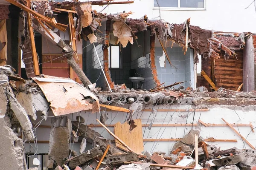
MULTIPOLYGON (((143 106, 144 108, 145 106, 143 106)), ((216 107, 214 106, 213 108, 211 108, 209 111, 202 111, 202 112, 195 112, 195 121, 194 123, 198 123, 198 119, 200 118, 201 121, 203 121, 204 123, 211 123, 211 124, 225 124, 225 122, 223 122, 221 120, 221 118, 224 118, 227 122, 229 122, 230 124, 233 123, 237 123, 239 121, 239 117, 240 117, 240 121, 238 122, 239 124, 250 124, 250 122, 252 122, 253 126, 256 127, 256 114, 254 111, 254 107, 253 106, 246 106, 247 109, 249 108, 251 111, 243 111, 243 110, 238 110, 240 107, 236 108, 236 111, 234 110, 230 110, 227 108, 220 108, 220 107, 216 107), (236 114, 237 113, 237 114, 236 114)), ((125 106, 125 108, 128 108, 128 105, 125 106)), ((152 108, 152 106, 148 106, 146 107, 146 109, 150 109, 152 108)), ((156 106, 155 109, 194 109, 194 106, 192 105, 169 105, 169 106, 156 106)), ((235 109, 235 108, 234 108, 235 109)), ((136 118, 140 118, 141 116, 140 112, 138 115, 134 115, 133 119, 136 118)), ((186 111, 186 112, 157 112, 156 118, 154 120, 154 124, 180 124, 180 123, 192 123, 193 121, 193 111, 186 111), (188 116, 188 120, 186 121, 186 118, 182 118, 180 116, 184 116, 186 114, 189 114, 188 116), (166 119, 165 119, 166 117, 166 119), (165 120, 164 120, 165 119, 165 120), (171 119, 171 120, 170 120, 171 119)), ((109 119, 106 122, 106 124, 111 124, 111 119, 112 119, 112 124, 115 124, 117 122, 125 122, 126 119, 126 113, 123 112, 115 112, 112 111, 111 113, 108 112, 109 115, 109 119)), ((72 117, 72 114, 67 115, 68 117, 72 117)), ((76 120, 76 116, 79 116, 78 113, 73 113, 73 120, 76 120)), ((81 116, 84 117, 85 119, 85 123, 84 124, 96 124, 96 116, 97 119, 100 118, 100 114, 99 113, 94 113, 91 114, 89 112, 83 112, 81 113, 81 116), (89 116, 89 117, 88 117, 89 116), (88 118, 88 119, 87 119, 88 118), (88 122, 87 122, 88 120, 88 122)), ((153 114, 151 114, 150 116, 150 112, 143 112, 142 116, 141 116, 141 120, 142 120, 142 124, 148 124, 151 122, 151 120, 154 118, 153 114)), ((41 125, 51 125, 51 120, 47 119, 47 121, 43 121, 41 125)), ((99 125, 99 123, 97 122, 97 125, 99 125)), ((102 133, 102 131, 104 130, 103 127, 92 127, 93 130, 96 130, 99 133, 102 133)), ((148 130, 148 127, 143 127, 143 133, 145 131, 144 137, 143 139, 171 139, 171 138, 183 138, 184 136, 184 131, 185 131, 185 135, 189 132, 189 130, 191 130, 191 126, 186 126, 186 127, 151 127, 151 130, 148 130), (164 133, 163 133, 164 131, 164 133), (157 136, 157 134, 159 133, 159 135, 157 136), (163 135, 161 136, 161 134, 163 133, 163 135)), ((247 137, 248 133, 250 133, 251 128, 249 126, 246 127, 234 127, 236 130, 240 130, 240 133, 242 136, 244 136, 245 138, 247 137), (239 129, 238 129, 239 128, 239 129)), ((112 130, 113 132, 113 127, 109 127, 109 129, 112 130)), ((193 129, 195 130, 200 130, 200 136, 202 136, 204 139, 207 139, 209 137, 213 137, 215 139, 236 139, 238 142, 207 142, 208 144, 214 144, 217 147, 221 147, 221 150, 225 150, 225 149, 229 149, 232 147, 237 147, 239 149, 243 149, 243 148, 250 148, 250 146, 248 146, 245 142, 245 147, 244 147, 244 143, 241 140, 241 137, 239 137, 232 129, 230 129, 230 127, 204 127, 202 126, 197 126, 197 127, 193 127, 193 129)), ((49 128, 41 128, 38 127, 37 128, 37 136, 38 136, 38 141, 40 140, 49 140, 49 132, 50 129, 49 128)), ((114 139, 112 136, 110 136, 110 134, 105 130, 102 133, 103 137, 106 138, 110 138, 110 139, 114 139)), ((134 139, 136 140, 136 139, 134 139)), ((247 140, 253 145, 256 146, 256 133, 251 132, 250 135, 248 136, 247 140)), ((161 152, 166 152, 167 154, 169 153, 169 150, 172 149, 173 144, 175 144, 175 142, 144 142, 144 151, 148 150, 149 152, 156 152, 156 151, 161 151, 161 152), (153 144, 155 145, 154 150, 152 150, 153 144)), ((26 150, 29 151, 29 144, 25 144, 26 145, 26 150)), ((75 143, 74 144, 74 150, 76 150, 77 152, 79 152, 79 147, 80 147, 80 143, 75 143)), ((49 144, 38 144, 38 153, 48 153, 48 148, 49 148, 49 144)), ((91 145, 87 143, 87 149, 91 149, 91 145)), ((33 151, 32 151, 33 152, 33 151)))

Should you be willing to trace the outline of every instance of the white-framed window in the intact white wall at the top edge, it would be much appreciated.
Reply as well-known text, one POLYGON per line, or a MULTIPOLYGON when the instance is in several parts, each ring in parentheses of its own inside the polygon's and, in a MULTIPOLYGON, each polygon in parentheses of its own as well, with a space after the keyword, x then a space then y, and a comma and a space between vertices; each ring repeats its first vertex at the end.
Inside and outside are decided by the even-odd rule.
POLYGON ((154 9, 205 10, 206 0, 154 0, 154 9))

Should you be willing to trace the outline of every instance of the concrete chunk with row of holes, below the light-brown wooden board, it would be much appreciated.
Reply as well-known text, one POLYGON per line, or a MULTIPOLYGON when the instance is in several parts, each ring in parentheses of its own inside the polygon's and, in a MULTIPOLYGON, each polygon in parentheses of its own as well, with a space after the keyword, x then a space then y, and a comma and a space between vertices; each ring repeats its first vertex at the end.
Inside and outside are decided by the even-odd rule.
POLYGON ((108 163, 119 164, 125 161, 138 161, 138 156, 136 153, 124 153, 118 155, 106 156, 108 163))

